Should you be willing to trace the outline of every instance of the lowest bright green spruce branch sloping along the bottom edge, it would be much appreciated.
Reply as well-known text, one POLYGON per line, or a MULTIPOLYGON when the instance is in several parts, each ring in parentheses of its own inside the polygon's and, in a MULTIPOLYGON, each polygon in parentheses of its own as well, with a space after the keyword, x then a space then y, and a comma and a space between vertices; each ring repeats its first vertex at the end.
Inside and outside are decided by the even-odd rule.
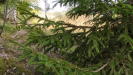
MULTIPOLYGON (((17 42, 12 41, 13 43, 20 46, 20 50, 23 50, 23 55, 20 57, 21 60, 29 60, 29 64, 34 65, 35 74, 39 75, 99 75, 95 73, 96 67, 90 68, 80 68, 76 65, 71 64, 68 61, 51 58, 47 55, 32 50, 25 45, 18 44, 17 42)), ((99 66, 97 66, 99 67, 99 66)))

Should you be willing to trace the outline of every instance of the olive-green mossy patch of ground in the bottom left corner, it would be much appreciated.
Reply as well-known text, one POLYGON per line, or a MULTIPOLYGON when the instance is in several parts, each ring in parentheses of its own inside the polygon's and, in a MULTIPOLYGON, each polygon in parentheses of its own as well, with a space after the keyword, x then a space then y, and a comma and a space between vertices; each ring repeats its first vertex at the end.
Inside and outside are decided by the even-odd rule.
POLYGON ((32 75, 30 70, 25 68, 25 64, 15 61, 15 59, 0 58, 0 75, 32 75))

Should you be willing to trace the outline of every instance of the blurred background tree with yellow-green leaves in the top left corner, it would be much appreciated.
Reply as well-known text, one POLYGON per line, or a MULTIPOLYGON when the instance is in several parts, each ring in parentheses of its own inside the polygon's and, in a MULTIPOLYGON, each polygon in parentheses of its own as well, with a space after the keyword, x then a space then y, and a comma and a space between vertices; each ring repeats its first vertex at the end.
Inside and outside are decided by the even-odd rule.
POLYGON ((24 11, 21 9, 28 9, 28 11, 31 11, 32 8, 38 8, 37 6, 32 5, 33 1, 37 1, 37 0, 2 0, 0 1, 0 6, 1 6, 0 16, 1 16, 1 19, 3 19, 3 25, 0 26, 1 28, 0 34, 2 34, 2 32, 4 31, 4 27, 7 21, 17 25, 20 19, 19 17, 24 11))

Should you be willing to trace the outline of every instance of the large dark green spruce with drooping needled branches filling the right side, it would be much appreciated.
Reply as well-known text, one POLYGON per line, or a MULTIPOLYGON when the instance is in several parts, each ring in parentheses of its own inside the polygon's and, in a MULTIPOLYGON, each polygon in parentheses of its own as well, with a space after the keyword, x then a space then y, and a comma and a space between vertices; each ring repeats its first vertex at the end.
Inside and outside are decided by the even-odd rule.
POLYGON ((74 6, 67 13, 70 18, 93 15, 94 25, 76 26, 44 19, 30 11, 24 12, 28 18, 22 19, 21 23, 29 30, 26 46, 37 45, 42 53, 22 46, 23 58, 28 58, 40 75, 133 74, 131 4, 124 0, 117 3, 112 0, 59 0, 59 3, 74 6), (31 18, 38 18, 43 23, 29 25, 27 21, 31 18), (44 32, 48 28, 53 34, 44 32), (46 56, 49 52, 61 54, 64 60, 49 58, 46 56))

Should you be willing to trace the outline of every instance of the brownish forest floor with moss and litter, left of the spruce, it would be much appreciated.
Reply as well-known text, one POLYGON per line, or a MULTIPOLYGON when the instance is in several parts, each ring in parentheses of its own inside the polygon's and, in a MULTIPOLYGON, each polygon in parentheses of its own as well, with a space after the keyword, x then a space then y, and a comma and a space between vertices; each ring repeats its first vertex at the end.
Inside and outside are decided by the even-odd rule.
POLYGON ((15 30, 14 26, 6 26, 0 37, 0 75, 34 75, 25 61, 19 61, 21 51, 10 42, 24 42, 25 30, 15 30))

